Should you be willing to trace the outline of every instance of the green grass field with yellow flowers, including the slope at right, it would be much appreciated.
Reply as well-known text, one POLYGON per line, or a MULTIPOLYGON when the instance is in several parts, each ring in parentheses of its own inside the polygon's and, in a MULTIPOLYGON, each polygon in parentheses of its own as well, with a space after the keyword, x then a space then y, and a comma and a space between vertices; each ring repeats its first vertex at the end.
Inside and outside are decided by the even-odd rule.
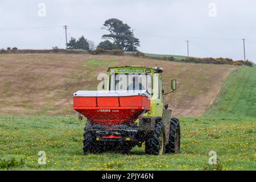
POLYGON ((143 147, 135 147, 128 155, 82 155, 85 121, 75 114, 0 117, 0 169, 210 170, 208 154, 216 151, 219 170, 255 170, 255 73, 256 67, 241 68, 204 117, 180 118, 180 154, 148 156, 143 147), (46 152, 46 165, 38 164, 39 151, 46 152))

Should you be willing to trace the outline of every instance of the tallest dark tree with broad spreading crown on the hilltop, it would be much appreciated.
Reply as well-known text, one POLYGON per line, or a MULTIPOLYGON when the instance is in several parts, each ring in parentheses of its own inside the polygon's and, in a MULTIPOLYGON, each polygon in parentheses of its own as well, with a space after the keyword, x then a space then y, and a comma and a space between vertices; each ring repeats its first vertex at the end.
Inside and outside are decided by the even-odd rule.
POLYGON ((106 20, 103 28, 109 31, 110 34, 103 35, 102 39, 112 40, 117 49, 133 51, 133 41, 134 51, 137 51, 137 47, 140 46, 139 39, 133 38, 133 32, 130 30, 131 27, 119 19, 112 18, 106 20))

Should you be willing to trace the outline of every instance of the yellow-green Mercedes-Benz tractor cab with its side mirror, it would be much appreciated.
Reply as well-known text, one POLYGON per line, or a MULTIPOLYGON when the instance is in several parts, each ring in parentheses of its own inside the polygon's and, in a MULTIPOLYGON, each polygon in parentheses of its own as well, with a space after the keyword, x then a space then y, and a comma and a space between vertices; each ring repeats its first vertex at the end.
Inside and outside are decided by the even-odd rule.
MULTIPOLYGON (((147 115, 162 117, 163 114, 163 68, 141 66, 122 66, 108 69, 107 90, 135 92, 146 90, 150 96, 150 111, 147 115)), ((176 90, 176 81, 171 81, 172 90, 176 90)))

